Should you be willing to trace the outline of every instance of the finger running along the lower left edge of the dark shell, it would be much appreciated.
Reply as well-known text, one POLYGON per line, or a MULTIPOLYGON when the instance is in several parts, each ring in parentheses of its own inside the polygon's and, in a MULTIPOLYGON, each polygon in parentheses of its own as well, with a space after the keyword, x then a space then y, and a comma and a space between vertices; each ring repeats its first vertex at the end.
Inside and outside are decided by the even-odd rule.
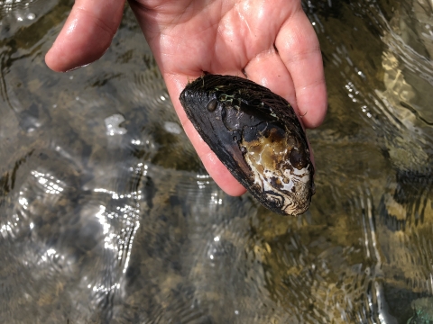
POLYGON ((207 146, 207 143, 201 139, 197 130, 194 128, 191 121, 189 121, 187 114, 183 110, 178 99, 183 88, 187 85, 188 80, 195 80, 199 76, 200 75, 180 77, 179 75, 173 76, 170 74, 164 74, 164 79, 169 90, 170 98, 173 100, 174 108, 178 113, 180 123, 182 124, 192 145, 196 148, 198 157, 200 157, 209 175, 225 193, 233 196, 244 194, 246 192, 244 186, 239 184, 230 171, 228 171, 226 166, 222 164, 215 153, 207 146))

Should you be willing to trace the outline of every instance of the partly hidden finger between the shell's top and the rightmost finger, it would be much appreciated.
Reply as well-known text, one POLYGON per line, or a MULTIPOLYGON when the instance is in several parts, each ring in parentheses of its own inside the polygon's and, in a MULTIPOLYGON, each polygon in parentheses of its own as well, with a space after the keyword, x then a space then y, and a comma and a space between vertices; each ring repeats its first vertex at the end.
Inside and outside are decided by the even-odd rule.
POLYGON ((295 108, 295 111, 297 110, 293 81, 275 49, 257 55, 250 60, 244 70, 250 80, 281 95, 295 108))

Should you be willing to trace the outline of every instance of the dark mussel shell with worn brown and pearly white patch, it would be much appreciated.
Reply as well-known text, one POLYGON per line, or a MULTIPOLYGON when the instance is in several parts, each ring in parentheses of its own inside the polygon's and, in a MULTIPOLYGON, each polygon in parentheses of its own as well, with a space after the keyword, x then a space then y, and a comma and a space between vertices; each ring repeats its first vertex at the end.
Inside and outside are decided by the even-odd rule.
POLYGON ((299 215, 314 194, 305 132, 280 95, 237 76, 206 75, 180 94, 200 136, 253 196, 272 211, 299 215))

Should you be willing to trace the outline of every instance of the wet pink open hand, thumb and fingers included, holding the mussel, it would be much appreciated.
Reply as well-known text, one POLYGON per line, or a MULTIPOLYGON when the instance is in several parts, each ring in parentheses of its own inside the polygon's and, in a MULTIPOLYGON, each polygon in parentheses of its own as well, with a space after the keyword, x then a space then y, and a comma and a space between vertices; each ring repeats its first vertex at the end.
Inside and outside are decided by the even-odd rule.
MULTIPOLYGON (((245 192, 199 137, 179 96, 189 80, 244 76, 286 98, 306 128, 327 111, 323 64, 299 0, 131 0, 171 101, 207 172, 228 194, 245 192)), ((48 51, 52 70, 65 72, 100 58, 124 11, 124 0, 76 0, 48 51)))

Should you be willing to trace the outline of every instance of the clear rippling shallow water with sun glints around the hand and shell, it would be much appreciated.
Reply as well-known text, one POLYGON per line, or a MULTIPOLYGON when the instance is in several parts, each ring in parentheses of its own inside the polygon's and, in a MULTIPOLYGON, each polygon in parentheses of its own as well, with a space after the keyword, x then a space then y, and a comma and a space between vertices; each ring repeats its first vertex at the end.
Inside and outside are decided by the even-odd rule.
POLYGON ((51 72, 70 5, 0 1, 0 321, 431 323, 431 1, 303 3, 329 112, 299 218, 217 188, 129 9, 51 72))

